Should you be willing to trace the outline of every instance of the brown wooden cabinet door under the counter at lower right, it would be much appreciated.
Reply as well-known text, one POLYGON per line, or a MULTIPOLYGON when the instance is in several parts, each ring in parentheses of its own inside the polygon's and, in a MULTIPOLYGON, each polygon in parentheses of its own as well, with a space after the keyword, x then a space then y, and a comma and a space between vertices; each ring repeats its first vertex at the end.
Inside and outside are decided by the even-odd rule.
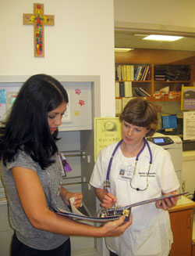
POLYGON ((170 256, 191 256, 193 209, 170 213, 173 243, 170 256))

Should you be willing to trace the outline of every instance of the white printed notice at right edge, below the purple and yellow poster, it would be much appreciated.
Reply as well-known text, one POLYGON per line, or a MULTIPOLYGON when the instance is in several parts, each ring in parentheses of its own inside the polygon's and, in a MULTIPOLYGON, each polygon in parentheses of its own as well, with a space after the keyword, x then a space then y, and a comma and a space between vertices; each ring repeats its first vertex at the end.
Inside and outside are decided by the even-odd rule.
POLYGON ((195 111, 183 113, 183 139, 195 139, 195 111))

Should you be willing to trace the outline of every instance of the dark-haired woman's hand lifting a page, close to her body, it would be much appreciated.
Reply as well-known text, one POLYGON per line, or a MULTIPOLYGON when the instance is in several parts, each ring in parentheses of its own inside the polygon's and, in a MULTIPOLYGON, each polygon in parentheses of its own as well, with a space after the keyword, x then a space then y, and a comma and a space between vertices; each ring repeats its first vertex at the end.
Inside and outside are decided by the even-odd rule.
POLYGON ((83 194, 78 192, 78 193, 71 193, 69 192, 68 190, 62 188, 61 189, 61 197, 62 197, 62 200, 64 200, 64 202, 67 204, 67 205, 70 205, 69 204, 69 199, 71 197, 74 197, 75 200, 74 200, 74 206, 76 208, 78 207, 81 207, 82 206, 82 200, 83 200, 83 194))

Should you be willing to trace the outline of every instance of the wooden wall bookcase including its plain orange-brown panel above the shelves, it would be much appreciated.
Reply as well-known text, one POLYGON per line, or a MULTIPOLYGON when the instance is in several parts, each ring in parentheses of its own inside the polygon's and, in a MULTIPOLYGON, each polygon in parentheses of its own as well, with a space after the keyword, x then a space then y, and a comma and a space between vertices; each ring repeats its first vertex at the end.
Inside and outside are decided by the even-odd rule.
MULTIPOLYGON (((194 63, 194 52, 187 51, 134 49, 126 53, 115 52, 115 81, 116 84, 125 84, 130 80, 132 96, 137 96, 135 88, 142 88, 150 95, 145 96, 151 101, 180 102, 182 86, 193 86, 195 81, 194 63), (130 79, 127 79, 127 74, 124 75, 127 66, 134 70, 134 76, 130 79), (140 76, 139 67, 142 67, 140 76), (146 67, 149 74, 144 76, 146 67)), ((116 96, 125 95, 118 93, 116 96)))

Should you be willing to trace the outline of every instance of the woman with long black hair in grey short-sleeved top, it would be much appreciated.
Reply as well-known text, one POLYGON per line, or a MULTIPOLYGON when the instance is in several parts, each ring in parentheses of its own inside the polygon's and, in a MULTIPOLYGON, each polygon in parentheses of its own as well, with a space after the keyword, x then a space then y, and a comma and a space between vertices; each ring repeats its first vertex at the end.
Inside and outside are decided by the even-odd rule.
POLYGON ((11 255, 70 255, 69 235, 120 236, 124 217, 94 227, 56 215, 54 207, 75 207, 81 193, 61 186, 62 164, 55 144, 69 102, 65 88, 45 74, 30 77, 20 89, 9 118, 0 127, 2 180, 9 219, 15 230, 11 255))

